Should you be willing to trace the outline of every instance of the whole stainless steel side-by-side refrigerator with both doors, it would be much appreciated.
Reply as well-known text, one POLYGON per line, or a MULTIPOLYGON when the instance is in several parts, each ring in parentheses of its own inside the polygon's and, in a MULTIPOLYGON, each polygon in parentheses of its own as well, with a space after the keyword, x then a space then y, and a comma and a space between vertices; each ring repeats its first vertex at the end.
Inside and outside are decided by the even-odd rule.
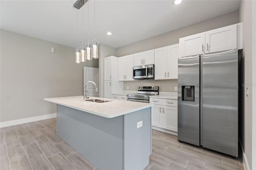
POLYGON ((240 53, 178 59, 178 140, 238 157, 240 53))

